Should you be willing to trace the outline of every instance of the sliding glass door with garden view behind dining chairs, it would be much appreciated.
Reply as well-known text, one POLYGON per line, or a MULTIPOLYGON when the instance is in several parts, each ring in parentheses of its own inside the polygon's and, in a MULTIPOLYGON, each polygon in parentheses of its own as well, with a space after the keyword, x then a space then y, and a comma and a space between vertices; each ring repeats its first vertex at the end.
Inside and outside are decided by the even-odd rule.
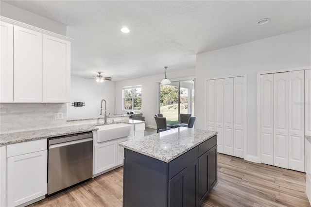
POLYGON ((159 112, 166 117, 167 124, 178 124, 180 114, 194 116, 194 80, 160 84, 159 112))

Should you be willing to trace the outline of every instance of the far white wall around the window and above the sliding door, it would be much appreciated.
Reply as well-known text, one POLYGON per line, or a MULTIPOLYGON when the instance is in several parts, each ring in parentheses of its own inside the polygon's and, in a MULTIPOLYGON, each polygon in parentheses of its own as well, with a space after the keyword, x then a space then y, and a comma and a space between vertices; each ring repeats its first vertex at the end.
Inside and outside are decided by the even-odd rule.
MULTIPOLYGON (((158 113, 158 88, 159 82, 164 78, 163 73, 158 75, 146 76, 141 78, 118 81, 115 85, 116 90, 116 110, 117 114, 125 114, 127 111, 122 111, 122 87, 124 86, 142 86, 142 113, 145 117, 145 122, 148 127, 156 128, 155 114, 158 113)), ((167 78, 172 80, 183 79, 185 77, 195 76, 195 69, 185 69, 167 72, 167 78)))

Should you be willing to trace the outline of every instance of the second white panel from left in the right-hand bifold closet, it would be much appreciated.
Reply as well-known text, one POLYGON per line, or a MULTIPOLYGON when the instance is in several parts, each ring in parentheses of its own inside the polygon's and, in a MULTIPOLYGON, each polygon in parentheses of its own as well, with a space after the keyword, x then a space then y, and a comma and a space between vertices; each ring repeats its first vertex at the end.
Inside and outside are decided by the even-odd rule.
POLYGON ((274 165, 288 168, 288 72, 274 74, 274 165))

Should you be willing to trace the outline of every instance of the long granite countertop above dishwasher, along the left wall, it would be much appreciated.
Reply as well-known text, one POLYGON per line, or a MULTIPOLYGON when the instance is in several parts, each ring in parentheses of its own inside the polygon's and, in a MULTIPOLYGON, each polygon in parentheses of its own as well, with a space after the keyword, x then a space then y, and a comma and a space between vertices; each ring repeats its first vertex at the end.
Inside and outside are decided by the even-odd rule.
MULTIPOLYGON (((138 124, 144 123, 144 121, 120 121, 120 122, 110 122, 107 124, 116 124, 116 123, 128 123, 128 124, 138 124)), ((57 128, 49 128, 49 129, 39 129, 33 131, 25 131, 25 132, 15 132, 10 134, 1 134, 0 135, 0 146, 14 144, 19 142, 33 141, 38 139, 59 137, 77 133, 91 132, 94 130, 98 130, 96 126, 107 125, 103 123, 99 124, 83 124, 83 125, 72 125, 72 126, 64 126, 57 128)))

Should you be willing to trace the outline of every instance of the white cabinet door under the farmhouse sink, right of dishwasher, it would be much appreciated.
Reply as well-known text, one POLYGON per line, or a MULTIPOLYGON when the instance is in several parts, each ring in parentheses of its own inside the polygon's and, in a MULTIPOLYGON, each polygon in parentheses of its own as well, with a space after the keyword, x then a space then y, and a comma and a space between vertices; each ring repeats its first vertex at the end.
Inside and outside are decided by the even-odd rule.
POLYGON ((104 172, 117 165, 117 140, 95 145, 94 174, 104 172))

